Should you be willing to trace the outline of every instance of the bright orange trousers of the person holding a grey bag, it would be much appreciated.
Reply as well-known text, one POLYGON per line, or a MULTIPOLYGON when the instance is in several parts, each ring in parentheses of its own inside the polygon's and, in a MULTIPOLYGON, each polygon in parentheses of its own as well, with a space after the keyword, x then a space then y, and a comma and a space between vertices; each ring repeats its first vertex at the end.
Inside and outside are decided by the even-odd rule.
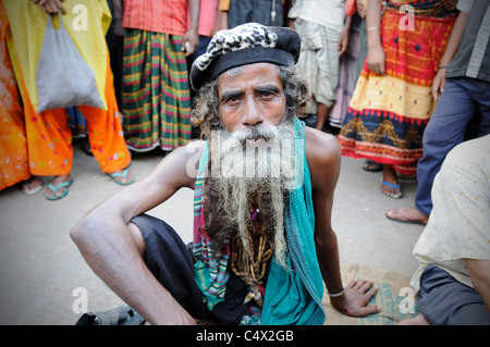
MULTIPOLYGON (((109 58, 107 64, 105 96, 108 110, 87 106, 79 106, 78 109, 87 121, 94 157, 105 173, 112 173, 125 169, 131 156, 124 140, 109 58)), ((35 175, 69 174, 73 164, 73 148, 65 109, 37 113, 30 103, 24 78, 21 79, 30 172, 35 175)))

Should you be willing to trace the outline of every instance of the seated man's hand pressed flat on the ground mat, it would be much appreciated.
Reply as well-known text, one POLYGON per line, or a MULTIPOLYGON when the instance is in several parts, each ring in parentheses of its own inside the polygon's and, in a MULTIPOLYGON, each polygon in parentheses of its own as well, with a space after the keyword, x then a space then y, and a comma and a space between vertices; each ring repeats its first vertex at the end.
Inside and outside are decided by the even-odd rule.
POLYGON ((334 309, 343 314, 365 317, 381 311, 378 306, 366 306, 377 293, 378 288, 372 286, 372 281, 353 280, 345 287, 344 295, 331 297, 330 302, 334 309))

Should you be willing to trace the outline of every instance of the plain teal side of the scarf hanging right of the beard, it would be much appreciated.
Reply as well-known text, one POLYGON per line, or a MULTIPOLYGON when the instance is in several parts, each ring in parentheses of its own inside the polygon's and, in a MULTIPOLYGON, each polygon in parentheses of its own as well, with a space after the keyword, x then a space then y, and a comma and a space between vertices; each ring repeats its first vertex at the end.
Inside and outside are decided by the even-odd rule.
POLYGON ((305 156, 305 123, 295 119, 296 153, 303 162, 303 184, 290 190, 285 214, 290 268, 285 271, 272 262, 267 280, 261 324, 264 325, 319 325, 326 315, 321 299, 323 281, 314 241, 315 212, 311 199, 311 181, 305 156))

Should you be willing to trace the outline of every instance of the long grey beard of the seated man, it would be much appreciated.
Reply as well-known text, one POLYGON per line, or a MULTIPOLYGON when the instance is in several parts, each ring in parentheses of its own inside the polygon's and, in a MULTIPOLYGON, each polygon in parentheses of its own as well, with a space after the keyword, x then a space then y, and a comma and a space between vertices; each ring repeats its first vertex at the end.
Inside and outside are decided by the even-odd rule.
POLYGON ((243 261, 248 261, 252 253, 248 230, 253 225, 249 209, 255 201, 266 223, 266 235, 273 239, 275 261, 287 269, 284 212, 292 176, 299 168, 294 146, 295 131, 291 123, 234 133, 213 132, 211 175, 205 181, 203 194, 208 206, 206 230, 216 252, 238 235, 243 261), (258 148, 245 146, 247 139, 256 138, 266 139, 267 144, 258 148), (217 161, 219 165, 213 168, 217 161))

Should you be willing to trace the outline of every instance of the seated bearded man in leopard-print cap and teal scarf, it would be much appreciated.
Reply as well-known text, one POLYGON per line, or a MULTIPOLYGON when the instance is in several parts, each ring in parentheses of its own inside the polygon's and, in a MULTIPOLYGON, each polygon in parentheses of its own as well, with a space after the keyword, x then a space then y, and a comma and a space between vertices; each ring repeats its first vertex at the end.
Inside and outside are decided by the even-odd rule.
POLYGON ((324 286, 362 317, 370 281, 344 287, 331 227, 340 148, 305 127, 299 36, 244 24, 221 30, 193 64, 193 121, 206 140, 175 149, 144 181, 71 231, 88 264, 151 324, 322 324, 324 286), (194 243, 144 214, 195 190, 194 243))

